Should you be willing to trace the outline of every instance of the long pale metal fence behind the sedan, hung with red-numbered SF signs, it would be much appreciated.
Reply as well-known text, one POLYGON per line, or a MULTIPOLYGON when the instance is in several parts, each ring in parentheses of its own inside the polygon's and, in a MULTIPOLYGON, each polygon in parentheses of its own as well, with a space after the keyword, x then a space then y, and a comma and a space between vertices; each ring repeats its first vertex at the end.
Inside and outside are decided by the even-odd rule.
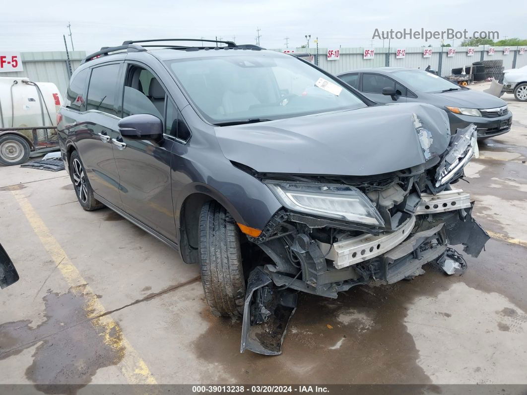
MULTIPOLYGON (((399 47, 404 49, 402 47, 399 47)), ((298 48, 294 52, 309 52, 315 57, 315 63, 324 70, 333 74, 339 74, 350 70, 382 67, 382 66, 399 66, 414 69, 426 69, 430 65, 431 69, 441 72, 441 76, 450 75, 453 68, 471 65, 473 62, 481 60, 503 60, 504 69, 520 68, 527 65, 527 51, 520 54, 519 47, 509 47, 509 54, 505 54, 506 47, 493 47, 495 52, 489 55, 489 45, 479 46, 474 48, 474 54, 467 54, 468 47, 412 47, 405 48, 406 55, 403 59, 396 59, 397 48, 389 49, 375 48, 375 55, 373 59, 364 59, 364 47, 344 48, 341 47, 340 56, 338 60, 328 60, 327 48, 298 48), (448 56, 448 49, 455 49, 454 56, 448 56), (424 57, 424 50, 432 50, 431 57, 424 57)), ((281 52, 283 49, 274 49, 273 51, 281 52)))

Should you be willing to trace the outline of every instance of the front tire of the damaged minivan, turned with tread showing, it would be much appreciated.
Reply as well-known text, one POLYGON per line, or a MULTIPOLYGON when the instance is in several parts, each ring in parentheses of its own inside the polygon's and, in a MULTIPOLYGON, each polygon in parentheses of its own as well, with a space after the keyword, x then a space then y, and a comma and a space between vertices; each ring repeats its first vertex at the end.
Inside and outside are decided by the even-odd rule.
POLYGON ((235 220, 216 201, 208 201, 201 209, 199 232, 201 283, 212 314, 242 316, 246 287, 235 220))

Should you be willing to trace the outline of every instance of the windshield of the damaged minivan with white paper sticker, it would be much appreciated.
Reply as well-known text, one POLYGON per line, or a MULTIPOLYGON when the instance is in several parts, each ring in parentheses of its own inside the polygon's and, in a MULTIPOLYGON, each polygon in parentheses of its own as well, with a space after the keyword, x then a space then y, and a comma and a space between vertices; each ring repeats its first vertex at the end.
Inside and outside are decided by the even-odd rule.
POLYGON ((366 107, 338 81, 292 56, 214 56, 168 63, 211 123, 366 107))

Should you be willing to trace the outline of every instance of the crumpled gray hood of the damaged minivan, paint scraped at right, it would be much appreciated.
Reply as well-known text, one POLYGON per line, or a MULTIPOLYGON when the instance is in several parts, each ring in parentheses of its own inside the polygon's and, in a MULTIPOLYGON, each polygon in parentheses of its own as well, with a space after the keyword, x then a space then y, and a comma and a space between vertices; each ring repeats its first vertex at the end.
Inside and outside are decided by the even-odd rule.
POLYGON ((422 165, 441 155, 450 142, 446 113, 424 103, 377 105, 215 131, 227 159, 258 172, 287 174, 384 174, 422 165), (418 137, 413 114, 429 132, 424 139, 418 137))

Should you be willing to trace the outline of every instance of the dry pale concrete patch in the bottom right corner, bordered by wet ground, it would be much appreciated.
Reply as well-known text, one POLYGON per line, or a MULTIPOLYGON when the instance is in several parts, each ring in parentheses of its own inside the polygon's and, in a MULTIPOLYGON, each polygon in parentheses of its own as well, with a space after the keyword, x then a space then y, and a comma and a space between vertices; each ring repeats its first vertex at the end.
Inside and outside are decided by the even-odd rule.
POLYGON ((527 315, 501 294, 457 283, 435 297, 418 297, 405 324, 419 350, 417 363, 434 382, 527 382, 527 315))

